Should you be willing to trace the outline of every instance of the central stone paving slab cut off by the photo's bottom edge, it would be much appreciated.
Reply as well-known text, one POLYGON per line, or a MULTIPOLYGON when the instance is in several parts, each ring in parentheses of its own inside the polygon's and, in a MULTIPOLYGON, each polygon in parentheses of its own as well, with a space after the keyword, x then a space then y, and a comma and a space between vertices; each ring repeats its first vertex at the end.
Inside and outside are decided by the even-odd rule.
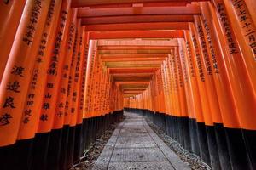
POLYGON ((168 161, 157 162, 111 162, 108 170, 174 170, 168 161))

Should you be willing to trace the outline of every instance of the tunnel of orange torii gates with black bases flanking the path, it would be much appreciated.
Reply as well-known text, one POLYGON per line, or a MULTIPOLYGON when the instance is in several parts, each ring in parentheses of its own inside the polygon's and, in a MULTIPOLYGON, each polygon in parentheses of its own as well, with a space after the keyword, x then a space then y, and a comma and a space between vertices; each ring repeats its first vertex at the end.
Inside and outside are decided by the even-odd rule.
POLYGON ((124 110, 256 169, 255 25, 254 0, 2 0, 0 169, 68 169, 124 110))

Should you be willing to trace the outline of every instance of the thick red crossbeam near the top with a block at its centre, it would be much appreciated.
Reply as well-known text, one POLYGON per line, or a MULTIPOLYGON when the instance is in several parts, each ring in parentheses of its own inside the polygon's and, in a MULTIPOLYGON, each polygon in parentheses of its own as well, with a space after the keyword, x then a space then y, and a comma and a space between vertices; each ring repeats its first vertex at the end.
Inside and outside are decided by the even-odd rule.
POLYGON ((154 14, 201 14, 198 5, 174 7, 79 8, 78 17, 131 16, 154 14))

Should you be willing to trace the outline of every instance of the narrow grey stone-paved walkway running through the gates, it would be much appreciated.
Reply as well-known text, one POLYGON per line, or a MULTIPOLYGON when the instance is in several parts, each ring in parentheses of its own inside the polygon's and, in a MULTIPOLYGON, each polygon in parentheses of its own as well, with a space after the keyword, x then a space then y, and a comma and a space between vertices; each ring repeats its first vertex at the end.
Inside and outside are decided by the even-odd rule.
POLYGON ((143 116, 125 112, 93 170, 189 170, 157 136, 143 116))

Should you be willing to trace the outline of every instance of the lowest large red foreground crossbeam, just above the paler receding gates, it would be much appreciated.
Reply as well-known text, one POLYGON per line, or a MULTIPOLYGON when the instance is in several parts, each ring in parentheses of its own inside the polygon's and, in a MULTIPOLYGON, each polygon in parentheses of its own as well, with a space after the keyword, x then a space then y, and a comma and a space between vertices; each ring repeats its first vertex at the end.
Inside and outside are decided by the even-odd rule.
POLYGON ((183 38, 183 31, 104 31, 89 33, 90 39, 183 38))

